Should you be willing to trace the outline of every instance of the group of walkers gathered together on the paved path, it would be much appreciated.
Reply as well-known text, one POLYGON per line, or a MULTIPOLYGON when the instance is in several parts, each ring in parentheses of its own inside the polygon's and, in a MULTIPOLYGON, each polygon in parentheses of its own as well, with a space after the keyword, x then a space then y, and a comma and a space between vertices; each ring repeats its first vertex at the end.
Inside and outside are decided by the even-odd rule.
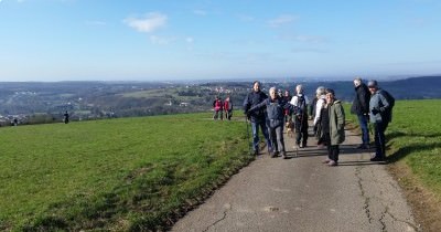
MULTIPOLYGON (((384 161, 385 130, 391 119, 394 98, 386 91, 379 88, 376 81, 364 84, 363 80, 354 80, 355 97, 351 113, 357 115, 362 129, 362 144, 358 149, 369 149, 368 122, 374 125, 375 156, 372 161, 384 161)), ((216 99, 217 101, 217 99, 216 99)), ((215 101, 215 103, 216 103, 215 101)), ((214 107, 215 107, 214 103, 214 107)), ((222 108, 222 104, 219 106, 222 108)), ((261 83, 256 81, 252 91, 244 99, 244 114, 250 122, 252 131, 252 151, 259 155, 259 130, 261 130, 272 158, 287 157, 283 139, 284 127, 293 125, 295 133, 294 149, 308 146, 309 123, 313 123, 313 134, 319 147, 326 147, 327 159, 323 162, 329 166, 337 166, 340 145, 345 140, 345 112, 342 102, 335 97, 331 88, 320 86, 315 91, 315 97, 309 101, 302 85, 295 86, 295 95, 290 96, 289 91, 277 92, 276 87, 269 88, 269 97, 261 91, 261 83)), ((216 107, 215 107, 216 109, 216 107)), ((222 109, 219 109, 222 112, 222 109)), ((218 113, 215 110, 215 117, 218 113)), ((220 113, 222 118, 222 113, 220 113)))

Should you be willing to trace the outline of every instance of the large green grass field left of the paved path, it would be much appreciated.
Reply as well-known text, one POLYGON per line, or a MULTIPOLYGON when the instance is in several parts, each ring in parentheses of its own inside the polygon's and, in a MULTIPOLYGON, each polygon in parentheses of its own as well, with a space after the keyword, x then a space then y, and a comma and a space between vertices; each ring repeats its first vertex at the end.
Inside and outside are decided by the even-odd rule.
POLYGON ((166 228, 252 160, 211 116, 0 128, 0 230, 166 228))

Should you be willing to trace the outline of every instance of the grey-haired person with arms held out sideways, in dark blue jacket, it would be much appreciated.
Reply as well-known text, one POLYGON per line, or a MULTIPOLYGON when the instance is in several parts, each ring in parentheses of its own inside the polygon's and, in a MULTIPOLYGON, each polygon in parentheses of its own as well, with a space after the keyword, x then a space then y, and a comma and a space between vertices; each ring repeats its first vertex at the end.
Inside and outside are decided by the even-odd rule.
POLYGON ((263 107, 267 108, 269 138, 275 149, 273 152, 271 152, 271 158, 281 155, 283 159, 287 159, 288 157, 283 139, 284 109, 292 110, 293 106, 287 102, 283 96, 278 95, 276 87, 269 89, 269 96, 270 98, 267 98, 251 107, 248 110, 248 114, 263 107))

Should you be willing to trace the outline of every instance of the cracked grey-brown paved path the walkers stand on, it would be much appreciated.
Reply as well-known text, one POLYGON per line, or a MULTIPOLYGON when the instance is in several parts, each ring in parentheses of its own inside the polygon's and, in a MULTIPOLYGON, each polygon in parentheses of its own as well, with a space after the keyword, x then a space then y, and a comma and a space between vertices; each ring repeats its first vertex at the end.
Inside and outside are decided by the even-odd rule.
MULTIPOLYGON (((172 231, 417 231, 386 166, 354 149, 359 136, 346 135, 337 167, 322 164, 325 150, 313 138, 297 158, 259 156, 172 231)), ((293 139, 286 144, 293 156, 293 139)))

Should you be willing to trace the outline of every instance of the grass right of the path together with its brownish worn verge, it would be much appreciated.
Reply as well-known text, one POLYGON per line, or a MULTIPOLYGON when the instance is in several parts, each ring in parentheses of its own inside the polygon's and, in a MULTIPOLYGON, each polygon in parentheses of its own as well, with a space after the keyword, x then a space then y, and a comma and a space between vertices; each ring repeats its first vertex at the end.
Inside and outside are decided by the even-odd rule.
MULTIPOLYGON (((347 106, 346 110, 356 122, 347 106)), ((408 190, 408 200, 428 231, 441 229, 440 115, 441 99, 397 101, 386 130, 389 170, 408 190)))

